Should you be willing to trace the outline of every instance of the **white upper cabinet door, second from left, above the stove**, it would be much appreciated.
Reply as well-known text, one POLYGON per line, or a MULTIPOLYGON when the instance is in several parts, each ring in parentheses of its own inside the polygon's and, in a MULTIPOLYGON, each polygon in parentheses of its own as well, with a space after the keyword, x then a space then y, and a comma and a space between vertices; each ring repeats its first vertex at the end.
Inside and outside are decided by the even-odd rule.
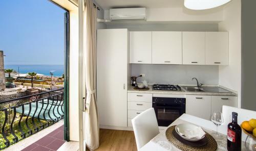
POLYGON ((152 32, 152 63, 182 64, 182 32, 152 32))

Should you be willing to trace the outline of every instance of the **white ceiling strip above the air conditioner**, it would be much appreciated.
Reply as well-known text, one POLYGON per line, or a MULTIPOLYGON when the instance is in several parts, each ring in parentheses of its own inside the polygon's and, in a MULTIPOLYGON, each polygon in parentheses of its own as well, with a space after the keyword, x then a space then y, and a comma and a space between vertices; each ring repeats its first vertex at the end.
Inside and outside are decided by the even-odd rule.
POLYGON ((145 7, 177 8, 183 7, 183 0, 95 0, 104 10, 110 8, 145 7))

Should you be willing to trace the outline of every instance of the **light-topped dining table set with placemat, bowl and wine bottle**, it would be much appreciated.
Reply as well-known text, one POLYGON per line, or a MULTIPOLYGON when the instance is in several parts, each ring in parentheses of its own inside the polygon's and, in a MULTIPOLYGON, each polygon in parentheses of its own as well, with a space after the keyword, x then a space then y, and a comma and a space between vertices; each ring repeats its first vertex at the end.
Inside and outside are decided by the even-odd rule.
MULTIPOLYGON (((139 151, 150 151, 150 150, 154 150, 154 151, 167 151, 167 150, 175 150, 176 151, 177 150, 178 151, 178 150, 180 150, 167 140, 167 138, 165 136, 165 132, 166 132, 167 128, 169 128, 173 125, 181 124, 181 123, 191 123, 191 124, 198 125, 205 132, 209 133, 212 137, 214 137, 214 139, 216 140, 217 145, 218 145, 217 150, 227 150, 226 149, 227 125, 222 124, 218 127, 218 132, 222 136, 222 139, 217 139, 217 138, 215 138, 214 135, 212 135, 213 133, 216 133, 216 131, 217 131, 217 127, 212 121, 184 113, 179 118, 177 118, 174 122, 172 122, 172 124, 170 124, 168 127, 164 128, 164 129, 160 129, 160 133, 157 136, 155 136, 152 140, 150 140, 148 143, 146 143, 143 147, 141 147, 139 149, 139 151), (220 143, 222 145, 220 145, 220 143), (223 147, 223 146, 225 146, 225 147, 223 147)), ((244 145, 244 141, 245 141, 244 138, 245 137, 242 138, 242 144, 241 144, 242 150, 246 150, 245 145, 244 145)))

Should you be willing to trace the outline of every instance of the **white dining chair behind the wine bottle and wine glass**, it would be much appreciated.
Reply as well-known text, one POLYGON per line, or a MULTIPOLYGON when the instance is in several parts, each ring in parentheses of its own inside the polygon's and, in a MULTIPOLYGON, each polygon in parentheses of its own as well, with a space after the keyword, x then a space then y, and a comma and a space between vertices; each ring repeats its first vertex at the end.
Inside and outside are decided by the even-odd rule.
MULTIPOLYGON (((229 106, 222 106, 222 115, 224 118, 224 124, 227 125, 232 121, 232 112, 238 113, 238 124, 240 125, 245 120, 250 120, 252 118, 256 119, 256 111, 239 109, 229 106)), ((245 141, 247 135, 242 133, 242 140, 245 141)))

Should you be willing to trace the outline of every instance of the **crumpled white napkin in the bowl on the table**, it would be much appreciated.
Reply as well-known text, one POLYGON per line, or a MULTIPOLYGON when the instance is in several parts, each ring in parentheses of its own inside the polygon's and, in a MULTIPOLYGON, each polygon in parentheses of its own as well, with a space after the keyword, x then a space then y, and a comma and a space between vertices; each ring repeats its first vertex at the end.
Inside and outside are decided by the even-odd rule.
POLYGON ((201 127, 197 127, 196 129, 193 130, 184 130, 183 133, 181 133, 178 129, 178 133, 181 135, 184 135, 186 138, 202 138, 205 135, 205 132, 201 127))

